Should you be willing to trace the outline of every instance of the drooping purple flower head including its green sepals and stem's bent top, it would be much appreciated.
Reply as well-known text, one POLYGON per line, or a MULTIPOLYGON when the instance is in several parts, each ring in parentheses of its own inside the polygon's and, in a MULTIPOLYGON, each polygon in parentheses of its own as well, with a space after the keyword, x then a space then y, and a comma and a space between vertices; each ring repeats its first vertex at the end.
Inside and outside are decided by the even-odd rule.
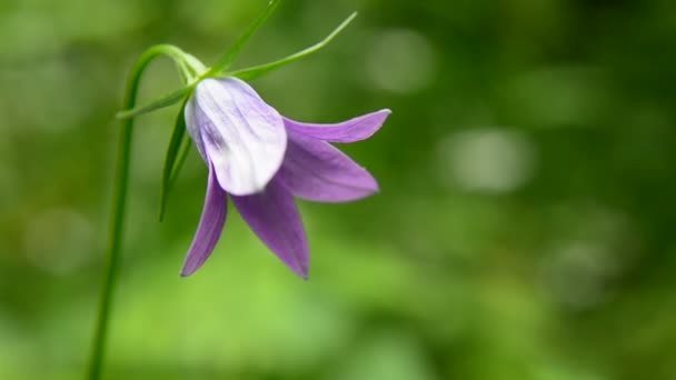
POLYGON ((141 56, 132 76, 137 78, 159 56, 175 60, 186 86, 145 107, 133 108, 138 78, 129 82, 130 109, 118 113, 128 119, 183 100, 162 173, 160 220, 167 194, 190 144, 178 157, 185 130, 209 169, 207 196, 181 276, 198 270, 213 251, 226 222, 228 194, 260 240, 299 276, 307 278, 308 243, 294 202, 346 202, 378 191, 371 174, 330 142, 355 142, 374 134, 390 111, 385 109, 335 124, 302 123, 282 117, 242 79, 254 79, 324 48, 357 16, 350 14, 324 40, 277 61, 228 71, 249 37, 267 20, 280 0, 267 8, 217 62, 207 68, 175 46, 151 47, 141 56))

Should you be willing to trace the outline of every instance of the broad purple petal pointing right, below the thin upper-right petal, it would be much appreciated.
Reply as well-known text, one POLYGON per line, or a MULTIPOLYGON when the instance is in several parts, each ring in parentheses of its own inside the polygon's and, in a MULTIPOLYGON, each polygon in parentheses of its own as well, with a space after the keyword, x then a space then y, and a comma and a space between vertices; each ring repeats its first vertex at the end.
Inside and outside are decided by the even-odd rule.
POLYGON ((291 131, 278 178, 294 196, 319 202, 347 202, 378 191, 374 177, 340 150, 291 131))

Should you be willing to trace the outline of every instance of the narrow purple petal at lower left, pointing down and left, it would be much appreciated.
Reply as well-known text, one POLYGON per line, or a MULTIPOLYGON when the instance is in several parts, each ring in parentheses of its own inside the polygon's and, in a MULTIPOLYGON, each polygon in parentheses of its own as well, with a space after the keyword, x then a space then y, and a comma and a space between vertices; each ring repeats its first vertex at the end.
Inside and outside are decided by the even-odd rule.
POLYGON ((202 208, 202 216, 197 227, 197 232, 192 239, 192 244, 186 256, 186 262, 181 270, 181 277, 192 274, 199 267, 207 261, 220 238, 226 223, 227 208, 226 192, 220 188, 216 180, 213 166, 209 164, 209 180, 207 184, 207 196, 202 208))

